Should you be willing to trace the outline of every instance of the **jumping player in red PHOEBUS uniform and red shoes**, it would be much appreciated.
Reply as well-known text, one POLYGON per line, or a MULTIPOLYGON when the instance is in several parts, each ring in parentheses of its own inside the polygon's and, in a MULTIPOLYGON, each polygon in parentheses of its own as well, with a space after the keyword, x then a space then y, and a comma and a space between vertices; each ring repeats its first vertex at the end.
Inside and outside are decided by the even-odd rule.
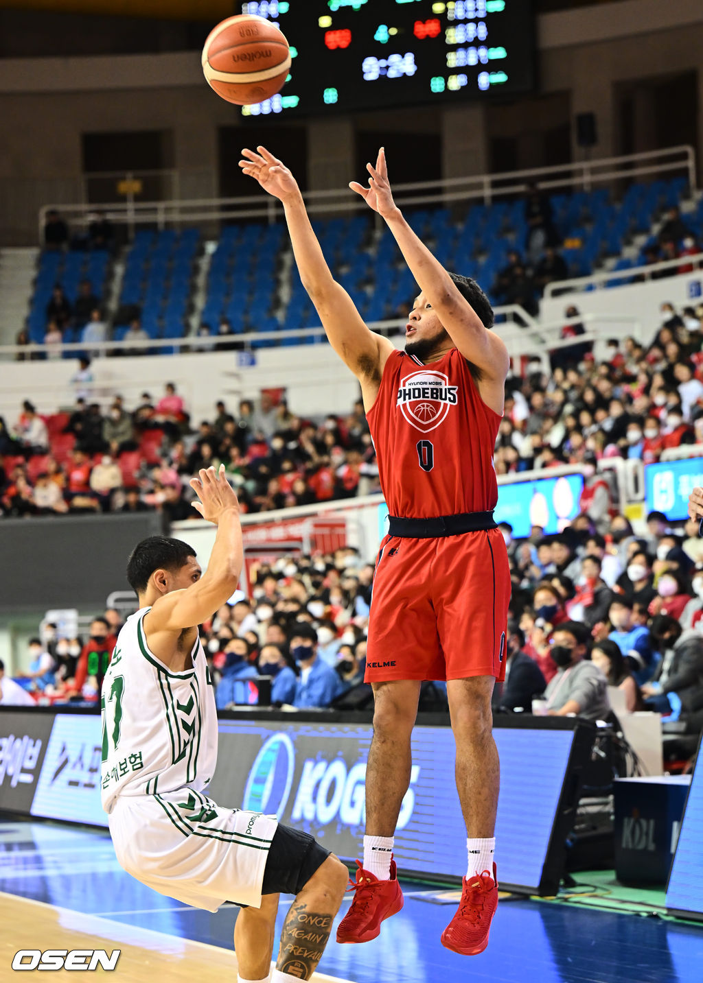
POLYGON ((393 834, 410 781, 420 685, 446 679, 468 865, 441 942, 456 953, 481 953, 498 904, 491 695, 504 677, 510 576, 493 519, 493 453, 508 354, 490 330, 493 311, 478 284, 448 273, 393 202, 382 148, 376 167, 367 165, 369 186, 350 188, 385 220, 420 290, 404 352, 369 330, 333 279, 290 171, 263 146, 242 152, 244 173, 283 202, 303 284, 330 344, 359 378, 390 511, 369 621, 366 679, 375 711, 364 862, 357 861, 355 897, 337 942, 376 938, 381 921, 402 907, 393 834))

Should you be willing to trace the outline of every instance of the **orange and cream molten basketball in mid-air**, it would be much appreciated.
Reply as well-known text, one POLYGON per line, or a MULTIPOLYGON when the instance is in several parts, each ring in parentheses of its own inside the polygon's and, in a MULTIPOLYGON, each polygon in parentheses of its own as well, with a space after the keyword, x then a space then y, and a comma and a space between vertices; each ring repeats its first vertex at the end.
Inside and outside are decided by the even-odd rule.
POLYGON ((207 85, 227 102, 246 106, 280 91, 290 48, 285 35, 263 17, 241 14, 209 32, 202 62, 207 85))

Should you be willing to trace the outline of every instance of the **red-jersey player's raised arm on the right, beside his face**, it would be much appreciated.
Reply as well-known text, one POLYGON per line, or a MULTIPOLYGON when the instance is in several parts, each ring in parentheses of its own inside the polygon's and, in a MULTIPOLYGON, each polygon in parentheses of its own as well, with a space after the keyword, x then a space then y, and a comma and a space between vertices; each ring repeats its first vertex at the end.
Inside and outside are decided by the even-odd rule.
POLYGON ((382 146, 376 167, 367 164, 367 168, 371 175, 369 187, 357 181, 352 181, 349 187, 385 220, 417 285, 464 358, 478 366, 488 379, 502 386, 509 364, 507 349, 498 335, 486 328, 448 272, 413 232, 393 202, 382 146))

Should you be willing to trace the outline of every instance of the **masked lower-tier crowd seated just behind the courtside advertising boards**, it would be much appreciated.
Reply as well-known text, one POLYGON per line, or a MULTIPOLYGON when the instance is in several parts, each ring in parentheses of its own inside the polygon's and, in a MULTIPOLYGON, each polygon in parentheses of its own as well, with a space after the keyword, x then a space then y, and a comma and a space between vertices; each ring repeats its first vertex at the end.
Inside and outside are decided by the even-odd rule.
MULTIPOLYGON (((636 536, 616 514, 603 536, 582 513, 557 536, 535 527, 522 541, 500 528, 512 600, 497 712, 608 720, 611 686, 628 711, 660 713, 692 737, 703 730, 703 541, 695 523, 674 530, 651 513, 636 536)), ((273 705, 369 706, 373 574, 351 548, 255 564, 250 598, 239 594, 201 627, 218 709, 258 703, 261 676, 273 705)), ((2 699, 96 700, 121 622, 108 609, 83 639, 45 626, 29 641, 27 670, 15 676, 13 692, 21 687, 24 699, 2 699)), ((440 684, 433 699, 434 707, 445 703, 440 684)))

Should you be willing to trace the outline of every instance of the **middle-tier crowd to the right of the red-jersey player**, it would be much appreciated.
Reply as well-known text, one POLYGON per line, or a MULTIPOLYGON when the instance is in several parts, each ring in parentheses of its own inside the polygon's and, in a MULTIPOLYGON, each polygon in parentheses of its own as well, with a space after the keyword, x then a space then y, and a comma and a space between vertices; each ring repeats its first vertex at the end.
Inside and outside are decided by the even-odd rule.
POLYGON ((524 378, 508 379, 498 474, 610 457, 648 464, 665 449, 703 442, 703 305, 677 312, 663 304, 651 344, 609 339, 601 361, 578 340, 577 309, 565 313, 569 343, 553 352, 552 372, 534 360, 524 378))

